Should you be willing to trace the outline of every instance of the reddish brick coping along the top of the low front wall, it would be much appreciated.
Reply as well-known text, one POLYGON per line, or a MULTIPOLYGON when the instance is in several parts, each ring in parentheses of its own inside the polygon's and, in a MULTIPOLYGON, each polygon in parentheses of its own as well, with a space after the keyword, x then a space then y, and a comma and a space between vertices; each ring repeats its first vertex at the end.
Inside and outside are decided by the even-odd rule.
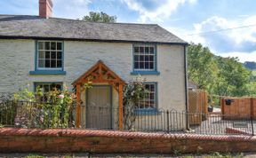
POLYGON ((0 128, 2 136, 28 136, 28 137, 105 137, 105 138, 158 138, 158 139, 196 139, 196 140, 222 140, 222 141, 255 141, 256 136, 232 136, 232 135, 198 135, 189 133, 147 133, 137 131, 114 130, 87 130, 87 129, 18 129, 0 128))

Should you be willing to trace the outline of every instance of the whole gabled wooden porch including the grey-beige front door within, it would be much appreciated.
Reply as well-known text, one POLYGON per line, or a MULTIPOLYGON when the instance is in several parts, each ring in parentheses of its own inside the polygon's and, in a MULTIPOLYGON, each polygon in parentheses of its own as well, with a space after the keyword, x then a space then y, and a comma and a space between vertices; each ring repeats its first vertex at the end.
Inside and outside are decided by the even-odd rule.
POLYGON ((101 60, 78 77, 72 83, 76 88, 76 128, 123 130, 124 84, 101 60))

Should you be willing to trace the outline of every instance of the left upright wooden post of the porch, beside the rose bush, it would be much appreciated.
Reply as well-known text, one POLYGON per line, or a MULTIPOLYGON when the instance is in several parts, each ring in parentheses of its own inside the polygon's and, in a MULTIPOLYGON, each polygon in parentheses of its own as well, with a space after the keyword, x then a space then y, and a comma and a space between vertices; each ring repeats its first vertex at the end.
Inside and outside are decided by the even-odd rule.
POLYGON ((76 128, 81 126, 81 85, 76 84, 76 128))

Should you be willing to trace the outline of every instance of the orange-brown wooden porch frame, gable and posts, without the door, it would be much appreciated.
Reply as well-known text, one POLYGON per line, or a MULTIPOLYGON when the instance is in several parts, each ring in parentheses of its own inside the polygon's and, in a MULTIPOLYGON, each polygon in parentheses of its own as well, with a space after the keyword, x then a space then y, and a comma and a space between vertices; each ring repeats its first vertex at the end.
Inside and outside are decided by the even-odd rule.
POLYGON ((119 130, 123 129, 123 87, 125 82, 99 60, 84 75, 81 75, 72 85, 76 87, 76 128, 81 125, 81 86, 84 83, 109 83, 118 91, 119 130))

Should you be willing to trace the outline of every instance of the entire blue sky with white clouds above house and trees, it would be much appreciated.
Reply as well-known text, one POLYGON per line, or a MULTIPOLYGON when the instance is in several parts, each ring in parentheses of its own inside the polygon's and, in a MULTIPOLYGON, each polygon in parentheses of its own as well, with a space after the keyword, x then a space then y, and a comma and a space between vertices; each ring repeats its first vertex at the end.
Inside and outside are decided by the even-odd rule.
MULTIPOLYGON (((88 12, 117 22, 154 23, 188 43, 202 43, 223 57, 256 61, 256 0, 52 0, 53 17, 88 12)), ((38 0, 0 0, 0 14, 37 15, 38 0)))

